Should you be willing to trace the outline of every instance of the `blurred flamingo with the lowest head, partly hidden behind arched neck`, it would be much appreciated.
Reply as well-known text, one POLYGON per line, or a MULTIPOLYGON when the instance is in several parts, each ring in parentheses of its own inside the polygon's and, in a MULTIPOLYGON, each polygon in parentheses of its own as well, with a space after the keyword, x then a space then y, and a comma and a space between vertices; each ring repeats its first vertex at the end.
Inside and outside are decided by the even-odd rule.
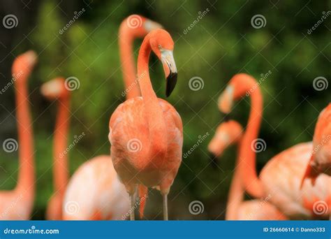
MULTIPOLYGON (((220 157, 226 147, 235 143, 240 144, 242 139, 242 126, 234 121, 223 122, 217 129, 215 136, 208 145, 209 152, 220 157)), ((239 161, 239 159, 237 159, 239 161)), ((285 220, 286 217, 272 203, 270 198, 243 201, 244 187, 240 173, 235 168, 230 186, 228 203, 226 206, 226 220, 285 220)))

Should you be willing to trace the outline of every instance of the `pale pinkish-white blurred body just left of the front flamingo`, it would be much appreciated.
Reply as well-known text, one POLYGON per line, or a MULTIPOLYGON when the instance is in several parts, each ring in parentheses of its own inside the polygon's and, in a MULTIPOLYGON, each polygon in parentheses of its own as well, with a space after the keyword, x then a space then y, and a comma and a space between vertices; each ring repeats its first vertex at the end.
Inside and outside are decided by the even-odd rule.
POLYGON ((73 174, 64 196, 66 220, 125 219, 128 193, 119 182, 110 156, 85 162, 73 174))

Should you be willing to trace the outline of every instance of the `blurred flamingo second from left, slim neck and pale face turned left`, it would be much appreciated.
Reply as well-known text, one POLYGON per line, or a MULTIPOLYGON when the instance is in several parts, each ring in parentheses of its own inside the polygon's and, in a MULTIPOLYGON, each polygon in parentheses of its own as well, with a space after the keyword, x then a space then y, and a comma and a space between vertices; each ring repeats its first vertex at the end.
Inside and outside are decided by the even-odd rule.
POLYGON ((55 78, 41 87, 41 94, 49 100, 58 101, 58 115, 53 140, 53 184, 54 194, 47 205, 48 220, 62 219, 62 202, 68 182, 68 159, 66 152, 70 122, 70 92, 64 85, 64 78, 55 78))

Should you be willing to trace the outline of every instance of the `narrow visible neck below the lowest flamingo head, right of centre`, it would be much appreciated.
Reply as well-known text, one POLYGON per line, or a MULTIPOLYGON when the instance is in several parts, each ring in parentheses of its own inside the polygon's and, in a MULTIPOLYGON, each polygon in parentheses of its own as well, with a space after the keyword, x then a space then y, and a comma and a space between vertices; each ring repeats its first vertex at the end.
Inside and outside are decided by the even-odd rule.
POLYGON ((237 155, 238 159, 235 164, 235 173, 233 173, 233 179, 230 185, 230 191, 228 196, 228 202, 226 204, 226 220, 237 220, 238 208, 244 199, 244 186, 241 180, 241 174, 238 168, 239 165, 239 151, 240 145, 238 145, 237 155))

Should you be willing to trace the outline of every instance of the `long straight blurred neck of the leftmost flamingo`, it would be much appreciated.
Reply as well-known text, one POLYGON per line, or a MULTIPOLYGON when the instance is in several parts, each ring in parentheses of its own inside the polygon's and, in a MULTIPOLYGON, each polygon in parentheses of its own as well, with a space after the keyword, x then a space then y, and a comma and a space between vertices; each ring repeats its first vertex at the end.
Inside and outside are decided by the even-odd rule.
MULTIPOLYGON (((21 77, 28 77, 22 75, 21 77)), ((29 110, 29 99, 27 80, 17 79, 16 89, 16 117, 19 143, 20 168, 16 189, 23 191, 29 198, 24 200, 33 200, 35 190, 34 175, 34 138, 32 132, 32 122, 29 110), (20 81, 19 81, 20 80, 20 81)))

